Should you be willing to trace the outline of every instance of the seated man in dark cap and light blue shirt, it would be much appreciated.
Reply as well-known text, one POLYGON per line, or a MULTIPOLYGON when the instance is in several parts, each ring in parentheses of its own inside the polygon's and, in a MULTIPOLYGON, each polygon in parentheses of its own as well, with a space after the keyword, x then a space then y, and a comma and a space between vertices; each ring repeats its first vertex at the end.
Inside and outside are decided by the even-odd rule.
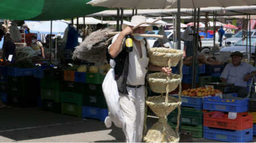
POLYGON ((251 77, 256 75, 256 68, 249 63, 241 62, 243 54, 239 51, 234 51, 230 57, 232 58, 232 63, 227 64, 224 68, 220 76, 221 81, 234 84, 238 97, 246 97, 246 81, 249 81, 251 77))

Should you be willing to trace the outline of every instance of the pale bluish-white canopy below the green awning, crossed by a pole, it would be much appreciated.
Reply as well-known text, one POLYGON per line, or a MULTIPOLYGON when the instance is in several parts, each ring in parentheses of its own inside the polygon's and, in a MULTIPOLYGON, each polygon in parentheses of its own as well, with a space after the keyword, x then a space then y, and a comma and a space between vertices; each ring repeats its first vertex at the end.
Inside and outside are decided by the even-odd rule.
MULTIPOLYGON (((68 23, 65 23, 61 20, 52 21, 52 33, 64 33, 65 29, 68 27, 68 23)), ((41 33, 41 34, 49 34, 51 32, 51 21, 44 21, 35 27, 30 28, 31 33, 41 33)))

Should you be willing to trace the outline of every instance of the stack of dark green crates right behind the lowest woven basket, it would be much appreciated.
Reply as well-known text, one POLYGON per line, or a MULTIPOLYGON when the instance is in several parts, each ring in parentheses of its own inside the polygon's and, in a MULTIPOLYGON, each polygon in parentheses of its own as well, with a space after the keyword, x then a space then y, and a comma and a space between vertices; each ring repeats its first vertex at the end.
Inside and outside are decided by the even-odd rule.
MULTIPOLYGON (((172 128, 176 127, 177 109, 168 115, 168 123, 172 128)), ((203 110, 189 107, 181 107, 181 129, 191 132, 192 137, 203 137, 203 110)))

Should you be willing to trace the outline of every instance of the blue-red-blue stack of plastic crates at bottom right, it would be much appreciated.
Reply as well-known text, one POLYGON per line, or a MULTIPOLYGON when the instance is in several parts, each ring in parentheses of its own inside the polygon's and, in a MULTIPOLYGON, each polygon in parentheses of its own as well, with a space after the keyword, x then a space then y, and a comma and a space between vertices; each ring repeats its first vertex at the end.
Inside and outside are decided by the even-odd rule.
POLYGON ((248 99, 206 97, 203 100, 204 138, 227 142, 253 140, 253 118, 249 115, 248 99))

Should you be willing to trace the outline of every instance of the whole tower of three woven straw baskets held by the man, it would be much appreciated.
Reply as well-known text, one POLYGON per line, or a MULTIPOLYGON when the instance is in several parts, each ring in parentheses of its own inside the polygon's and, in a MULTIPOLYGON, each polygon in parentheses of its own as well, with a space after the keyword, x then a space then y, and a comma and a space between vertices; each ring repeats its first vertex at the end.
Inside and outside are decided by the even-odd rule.
POLYGON ((155 66, 175 67, 180 62, 180 75, 171 74, 167 76, 165 73, 151 73, 147 76, 150 89, 155 93, 161 93, 160 96, 148 97, 146 104, 159 117, 143 138, 145 142, 179 142, 179 117, 181 105, 181 78, 182 78, 182 50, 167 49, 164 47, 151 48, 148 50, 150 63, 155 66), (179 99, 169 97, 168 93, 172 92, 179 85, 179 99), (166 96, 163 96, 166 93, 166 96), (167 123, 167 116, 176 107, 179 107, 177 116, 176 132, 172 130, 167 123))

